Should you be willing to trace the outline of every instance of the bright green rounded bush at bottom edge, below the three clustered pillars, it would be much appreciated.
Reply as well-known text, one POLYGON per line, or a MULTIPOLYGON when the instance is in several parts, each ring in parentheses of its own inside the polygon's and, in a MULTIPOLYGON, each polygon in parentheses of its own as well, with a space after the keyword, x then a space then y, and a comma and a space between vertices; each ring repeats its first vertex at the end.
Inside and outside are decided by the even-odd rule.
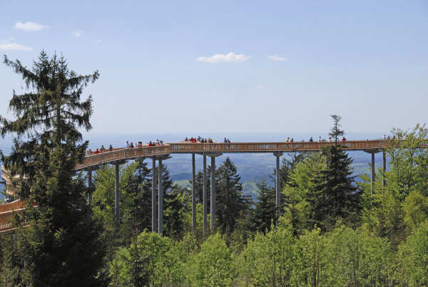
POLYGON ((189 286, 232 285, 233 257, 219 233, 209 236, 200 246, 200 252, 190 256, 185 276, 189 286))

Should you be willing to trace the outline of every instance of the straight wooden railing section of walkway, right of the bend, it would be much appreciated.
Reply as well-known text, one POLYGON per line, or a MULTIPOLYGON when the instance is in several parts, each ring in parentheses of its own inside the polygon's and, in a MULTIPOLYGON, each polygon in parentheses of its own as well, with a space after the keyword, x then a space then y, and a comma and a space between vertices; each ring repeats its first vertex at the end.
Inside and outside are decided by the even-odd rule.
MULTIPOLYGON (((340 146, 347 150, 365 150, 385 148, 389 146, 388 141, 341 141, 340 146)), ((293 143, 213 143, 213 144, 193 144, 178 143, 170 145, 171 153, 191 153, 191 152, 225 152, 225 153, 245 153, 245 152, 272 152, 272 151, 320 151, 327 146, 335 145, 334 142, 293 142, 293 143)))

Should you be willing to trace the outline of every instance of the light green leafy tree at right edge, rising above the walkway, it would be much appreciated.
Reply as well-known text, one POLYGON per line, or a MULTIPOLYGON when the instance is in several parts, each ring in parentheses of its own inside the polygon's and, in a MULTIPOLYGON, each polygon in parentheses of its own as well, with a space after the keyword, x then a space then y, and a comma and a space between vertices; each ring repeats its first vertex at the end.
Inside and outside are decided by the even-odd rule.
POLYGON ((363 177, 361 186, 372 205, 365 199, 362 219, 367 230, 399 246, 427 216, 428 151, 420 146, 427 144, 428 130, 417 125, 409 132, 394 129, 393 134, 393 147, 387 149, 389 170, 383 174, 386 187, 378 178, 370 196, 369 178, 363 177))

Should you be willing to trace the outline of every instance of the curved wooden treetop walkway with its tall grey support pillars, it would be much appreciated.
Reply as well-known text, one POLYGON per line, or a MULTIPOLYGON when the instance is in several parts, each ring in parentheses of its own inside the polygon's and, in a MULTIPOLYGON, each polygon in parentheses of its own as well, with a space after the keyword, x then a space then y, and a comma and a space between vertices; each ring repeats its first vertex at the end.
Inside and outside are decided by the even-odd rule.
MULTIPOLYGON (((312 152, 321 151, 322 148, 335 145, 330 141, 301 141, 301 142, 246 142, 246 143, 191 143, 180 142, 162 144, 161 146, 143 146, 136 148, 114 148, 113 151, 104 151, 97 154, 85 156, 82 163, 76 165, 76 171, 87 171, 88 190, 91 191, 92 171, 104 164, 113 164, 116 167, 116 190, 115 190, 115 214, 116 222, 119 222, 119 165, 129 160, 138 158, 151 158, 153 168, 156 168, 158 161, 158 183, 155 178, 152 180, 152 231, 163 232, 163 191, 162 191, 162 161, 170 158, 173 153, 190 153, 192 155, 192 226, 196 228, 195 211, 195 155, 203 156, 203 233, 208 228, 207 223, 207 168, 206 157, 211 158, 211 186, 210 190, 210 210, 215 210, 215 157, 223 153, 273 153, 276 157, 276 178, 275 193, 276 205, 280 206, 280 156, 290 152, 312 152), (158 200, 156 200, 156 186, 158 188, 158 200), (156 208, 156 201, 158 207, 156 208), (157 210, 156 210, 157 209, 157 210), (158 224, 156 224, 158 223, 158 224)), ((385 148, 394 145, 392 140, 365 140, 365 141, 340 141, 337 145, 342 146, 346 151, 365 151, 372 153, 372 193, 374 188, 374 153, 383 151, 383 169, 386 171, 385 148)), ((9 195, 14 194, 14 187, 11 184, 9 172, 1 166, 1 176, 8 186, 9 195)), ((88 204, 91 203, 91 193, 88 192, 88 204)), ((11 225, 10 218, 14 212, 23 211, 25 203, 15 201, 0 205, 0 232, 9 231, 14 226, 11 225)), ((215 213, 210 214, 210 228, 215 228, 215 213)))

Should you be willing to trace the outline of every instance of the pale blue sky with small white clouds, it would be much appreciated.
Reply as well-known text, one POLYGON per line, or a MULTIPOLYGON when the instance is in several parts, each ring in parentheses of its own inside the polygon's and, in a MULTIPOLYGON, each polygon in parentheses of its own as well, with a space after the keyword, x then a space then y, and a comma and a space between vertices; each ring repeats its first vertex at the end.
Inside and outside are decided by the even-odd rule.
MULTIPOLYGON (((427 121, 428 1, 2 0, 0 53, 101 77, 93 133, 384 132, 427 121), (217 56, 215 56, 217 55, 217 56)), ((0 65, 0 114, 22 81, 0 65)), ((10 117, 10 114, 9 114, 10 117)))

